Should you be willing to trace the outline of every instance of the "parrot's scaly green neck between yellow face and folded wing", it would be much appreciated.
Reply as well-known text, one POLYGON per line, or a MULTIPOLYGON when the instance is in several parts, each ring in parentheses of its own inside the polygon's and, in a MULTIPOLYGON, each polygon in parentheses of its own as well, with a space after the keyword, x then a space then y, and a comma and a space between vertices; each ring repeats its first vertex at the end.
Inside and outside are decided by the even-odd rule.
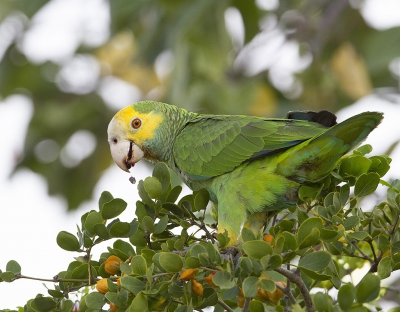
POLYGON ((172 156, 172 149, 175 138, 198 114, 171 105, 163 106, 162 110, 164 120, 159 129, 157 129, 157 142, 150 143, 145 157, 151 162, 165 162, 173 169, 175 162, 172 156))

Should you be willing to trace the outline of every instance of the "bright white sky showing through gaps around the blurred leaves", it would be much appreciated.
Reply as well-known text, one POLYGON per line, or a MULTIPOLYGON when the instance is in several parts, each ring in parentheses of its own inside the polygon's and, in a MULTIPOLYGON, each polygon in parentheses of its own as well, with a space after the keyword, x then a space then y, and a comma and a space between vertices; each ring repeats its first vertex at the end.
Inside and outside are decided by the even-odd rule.
MULTIPOLYGON (((258 0, 258 3, 264 2, 258 0)), ((274 6, 277 1, 266 1, 265 6, 274 6)), ((353 1, 354 2, 354 1, 353 1)), ((355 1, 357 2, 357 1, 355 1)), ((362 12, 372 26, 385 29, 400 25, 398 0, 367 0, 362 12)), ((77 46, 83 42, 96 46, 108 39, 109 13, 105 0, 52 0, 33 20, 32 27, 21 41, 21 48, 35 62, 52 60, 67 63, 77 46), (40 38, 40 40, 38 39, 40 38)), ((233 13, 235 14, 235 13, 233 13)), ((0 27, 1 31, 1 27, 0 27)), ((240 40, 239 40, 240 44, 240 40)), ((0 47, 1 49, 1 47, 0 47)), ((288 64, 293 55, 284 55, 288 64)), ((285 59, 280 62, 284 63, 285 59)), ((296 65, 298 66, 298 65, 296 65)), ((124 83, 115 82, 116 87, 124 89, 124 83)), ((120 105, 129 104, 137 97, 135 87, 126 86, 127 91, 121 98, 120 105)), ((108 90, 103 90, 111 92, 108 90)), ((382 125, 369 137, 367 143, 374 146, 374 153, 383 153, 398 138, 400 133, 400 101, 395 103, 370 96, 338 113, 339 121, 366 110, 385 113, 382 125), (384 138, 384 139, 382 139, 384 138)), ((111 103, 114 108, 118 104, 111 103)), ((65 270, 73 261, 71 253, 61 250, 56 244, 60 230, 76 232, 76 223, 80 216, 96 209, 101 192, 110 191, 115 197, 128 202, 128 208, 122 219, 130 221, 134 217, 136 187, 128 181, 129 175, 117 166, 111 166, 94 191, 94 200, 83 204, 73 213, 65 212, 65 202, 58 197, 49 197, 47 185, 41 176, 28 170, 21 170, 9 178, 21 154, 28 122, 32 115, 32 104, 21 96, 0 100, 0 269, 5 270, 9 260, 16 260, 22 266, 22 273, 28 276, 52 278, 59 271, 65 270)), ((77 129, 79 130, 79 129, 77 129)), ((106 138, 105 138, 106 139, 106 138)), ((400 177, 400 148, 392 155, 394 161, 389 177, 400 177)), ((110 157, 111 162, 111 157, 110 157)), ((143 163, 135 166, 134 175, 139 181, 148 176, 150 171, 143 163)), ((104 244, 94 250, 95 256, 105 250, 104 244)), ((20 280, 11 284, 0 283, 0 309, 15 308, 24 305, 37 293, 46 294, 41 282, 20 280)), ((74 299, 74 298, 72 298, 74 299)))

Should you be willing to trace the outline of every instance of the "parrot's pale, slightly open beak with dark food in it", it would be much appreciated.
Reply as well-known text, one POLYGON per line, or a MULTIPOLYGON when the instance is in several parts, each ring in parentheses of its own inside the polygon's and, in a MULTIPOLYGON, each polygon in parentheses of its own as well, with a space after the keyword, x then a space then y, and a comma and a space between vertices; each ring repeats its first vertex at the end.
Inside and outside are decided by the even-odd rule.
POLYGON ((111 143, 110 150, 114 162, 126 172, 144 156, 143 151, 132 141, 111 143))

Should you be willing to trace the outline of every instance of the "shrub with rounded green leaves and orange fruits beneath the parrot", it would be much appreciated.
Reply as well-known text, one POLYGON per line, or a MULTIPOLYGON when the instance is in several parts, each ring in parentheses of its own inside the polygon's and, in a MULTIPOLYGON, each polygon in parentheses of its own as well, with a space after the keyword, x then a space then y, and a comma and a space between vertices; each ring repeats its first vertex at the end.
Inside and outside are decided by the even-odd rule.
MULTIPOLYGON (((99 211, 82 216, 76 236, 59 233, 61 248, 83 256, 55 277, 47 297, 39 295, 25 308, 71 311, 70 292, 108 278, 108 289, 102 293, 82 292, 82 311, 105 309, 106 303, 118 306, 118 311, 191 311, 208 306, 219 311, 221 305, 233 309, 246 300, 250 311, 283 311, 286 304, 298 310, 371 311, 384 294, 381 280, 400 268, 400 184, 380 180, 388 188, 387 200, 364 211, 360 203, 375 191, 379 170, 369 166, 369 160, 380 157, 385 167, 390 163, 388 157, 368 158, 365 151, 370 149, 363 146, 344 158, 325 181, 304 187, 302 194, 310 196, 303 196, 297 208, 282 211, 280 222, 271 220, 266 228, 269 237, 257 238, 244 229, 244 243, 232 249, 221 248, 228 237, 219 234, 217 242, 204 223, 208 194, 198 191, 176 203, 180 189, 171 187, 169 171, 159 163, 153 177, 141 181, 145 187, 137 203, 137 219, 120 221, 117 217, 126 203, 104 192, 99 211), (361 159, 367 167, 359 166, 361 159), (342 166, 361 169, 341 176, 342 166), (357 185, 362 191, 355 192, 357 185), (113 214, 108 207, 115 207, 113 214), (129 238, 129 242, 117 239, 100 259, 90 257, 92 247, 113 237, 129 238), (105 271, 111 255, 122 261, 117 275, 105 271), (342 283, 365 264, 370 271, 357 285, 342 283), (290 288, 282 281, 290 281, 290 288), (334 287, 338 293, 310 295, 316 287, 334 287), (290 294, 289 301, 284 300, 285 293, 290 294)), ((0 272, 4 282, 19 278, 24 275, 14 260, 0 272)))

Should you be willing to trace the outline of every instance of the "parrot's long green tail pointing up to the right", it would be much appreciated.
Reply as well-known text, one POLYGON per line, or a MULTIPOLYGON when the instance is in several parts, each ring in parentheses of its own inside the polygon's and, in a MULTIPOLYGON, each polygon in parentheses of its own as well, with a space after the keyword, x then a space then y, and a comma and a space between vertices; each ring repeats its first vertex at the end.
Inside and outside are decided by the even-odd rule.
POLYGON ((329 128, 318 137, 282 153, 278 172, 300 183, 323 179, 338 160, 361 144, 382 119, 382 113, 365 112, 329 128))

